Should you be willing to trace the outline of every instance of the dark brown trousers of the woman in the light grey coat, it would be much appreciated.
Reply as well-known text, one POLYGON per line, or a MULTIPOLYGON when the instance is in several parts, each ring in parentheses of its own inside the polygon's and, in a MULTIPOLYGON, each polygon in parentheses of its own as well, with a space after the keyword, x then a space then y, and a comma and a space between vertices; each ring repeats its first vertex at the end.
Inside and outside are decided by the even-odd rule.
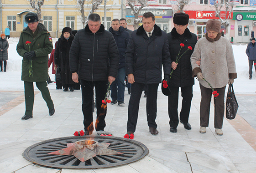
MULTIPOLYGON (((224 118, 224 97, 226 86, 222 88, 214 88, 219 93, 218 97, 214 97, 214 127, 222 128, 224 118)), ((201 103, 200 103, 200 126, 209 126, 210 105, 212 99, 212 89, 206 88, 200 84, 201 103)))

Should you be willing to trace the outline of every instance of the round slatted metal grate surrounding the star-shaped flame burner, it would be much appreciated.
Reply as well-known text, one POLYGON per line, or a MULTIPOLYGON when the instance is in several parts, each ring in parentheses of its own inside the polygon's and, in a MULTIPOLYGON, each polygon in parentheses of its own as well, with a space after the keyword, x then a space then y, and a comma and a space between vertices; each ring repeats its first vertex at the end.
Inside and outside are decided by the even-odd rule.
POLYGON ((148 148, 141 142, 121 137, 96 136, 94 141, 110 143, 109 149, 121 152, 121 155, 97 155, 94 158, 81 162, 73 155, 49 155, 63 148, 67 148, 67 143, 79 140, 92 139, 91 136, 60 137, 36 143, 23 153, 23 156, 30 162, 50 167, 50 168, 109 168, 135 162, 148 154, 148 148))

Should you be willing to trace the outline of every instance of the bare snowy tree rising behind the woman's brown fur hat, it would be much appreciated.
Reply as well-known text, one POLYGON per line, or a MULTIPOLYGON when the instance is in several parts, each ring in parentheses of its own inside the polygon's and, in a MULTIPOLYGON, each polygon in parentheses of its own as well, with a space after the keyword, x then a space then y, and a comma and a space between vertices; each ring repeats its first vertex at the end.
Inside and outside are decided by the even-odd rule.
POLYGON ((214 1, 215 16, 219 18, 219 20, 221 21, 221 25, 225 26, 226 33, 229 33, 228 26, 230 26, 230 17, 233 11, 233 7, 234 7, 233 2, 225 2, 225 4, 223 4, 223 3, 216 3, 216 1, 214 1), (222 19, 220 16, 220 11, 222 7, 225 8, 224 19, 222 19))

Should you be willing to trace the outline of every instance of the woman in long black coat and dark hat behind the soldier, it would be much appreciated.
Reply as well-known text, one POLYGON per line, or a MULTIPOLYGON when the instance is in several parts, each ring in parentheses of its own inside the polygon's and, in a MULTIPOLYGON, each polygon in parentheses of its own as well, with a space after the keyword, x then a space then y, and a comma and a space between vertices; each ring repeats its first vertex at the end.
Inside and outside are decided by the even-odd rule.
POLYGON ((69 50, 73 39, 74 35, 72 34, 72 29, 69 27, 63 28, 62 35, 57 41, 54 52, 54 62, 55 65, 60 67, 61 82, 64 92, 68 91, 68 87, 71 92, 74 91, 75 83, 72 80, 72 73, 69 68, 69 50))

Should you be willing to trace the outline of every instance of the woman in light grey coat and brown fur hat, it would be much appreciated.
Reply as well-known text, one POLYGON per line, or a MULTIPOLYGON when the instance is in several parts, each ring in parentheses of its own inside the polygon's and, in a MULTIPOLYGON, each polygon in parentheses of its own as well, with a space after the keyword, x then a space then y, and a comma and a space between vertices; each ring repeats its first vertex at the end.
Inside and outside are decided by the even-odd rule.
POLYGON ((199 39, 191 55, 192 76, 197 76, 200 83, 200 132, 205 133, 209 126, 209 113, 212 89, 219 96, 214 96, 214 127, 217 135, 223 135, 224 97, 227 84, 232 84, 237 78, 233 49, 225 37, 220 33, 220 21, 208 20, 204 38, 199 39), (200 66, 196 63, 201 58, 200 66), (204 81, 204 79, 206 81, 204 81))

